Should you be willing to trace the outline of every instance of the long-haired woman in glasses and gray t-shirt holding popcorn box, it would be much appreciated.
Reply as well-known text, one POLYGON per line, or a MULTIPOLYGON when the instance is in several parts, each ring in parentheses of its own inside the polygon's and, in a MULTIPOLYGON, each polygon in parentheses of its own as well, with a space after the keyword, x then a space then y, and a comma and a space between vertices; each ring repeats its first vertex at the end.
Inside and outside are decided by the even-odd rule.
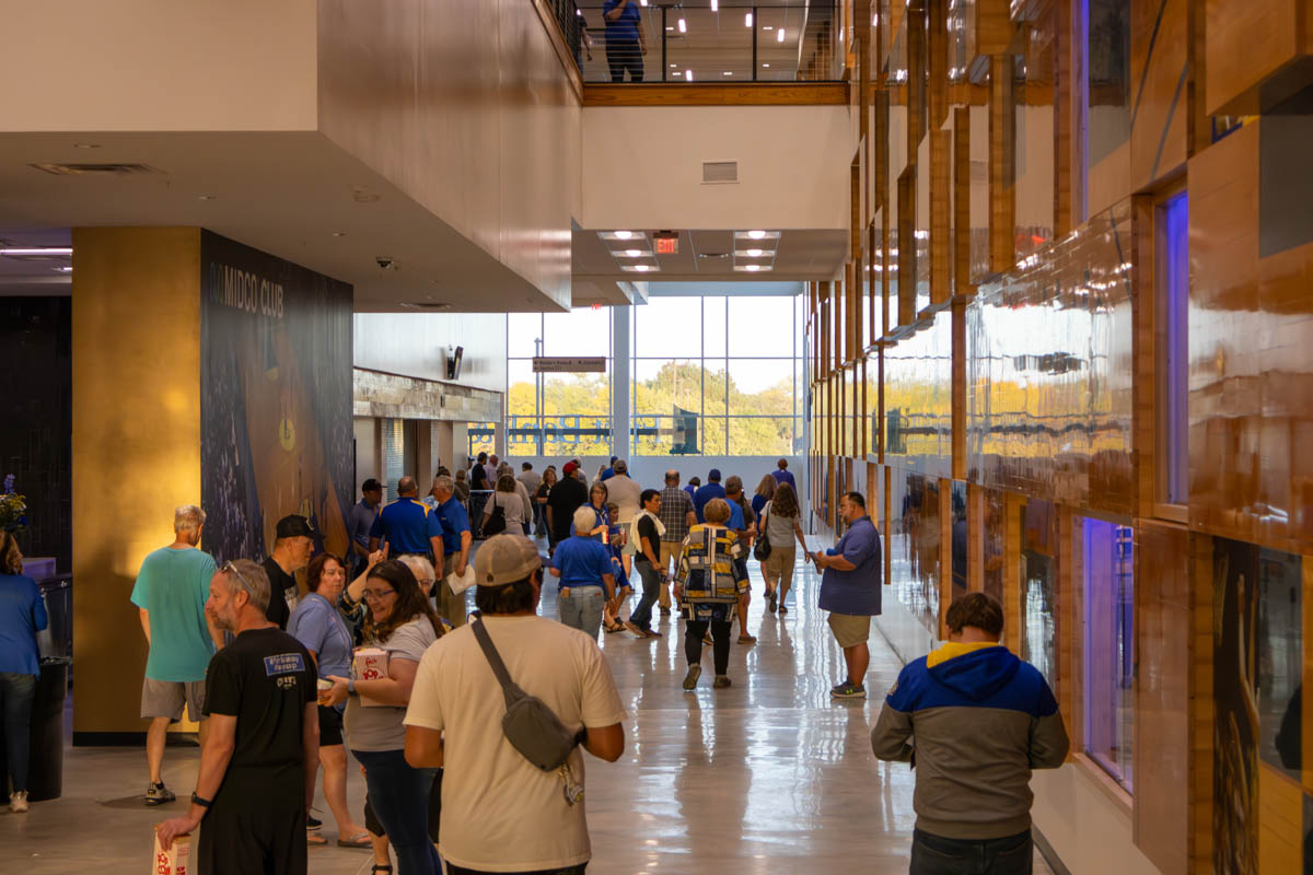
POLYGON ((402 875, 436 875, 437 851, 428 836, 429 791, 436 769, 412 769, 404 757, 406 706, 419 660, 442 634, 442 622, 415 575, 400 561, 383 561, 365 582, 365 647, 387 652, 387 677, 332 677, 322 703, 347 702, 347 744, 365 767, 369 804, 397 849, 402 875), (364 699, 369 699, 365 703, 364 699))

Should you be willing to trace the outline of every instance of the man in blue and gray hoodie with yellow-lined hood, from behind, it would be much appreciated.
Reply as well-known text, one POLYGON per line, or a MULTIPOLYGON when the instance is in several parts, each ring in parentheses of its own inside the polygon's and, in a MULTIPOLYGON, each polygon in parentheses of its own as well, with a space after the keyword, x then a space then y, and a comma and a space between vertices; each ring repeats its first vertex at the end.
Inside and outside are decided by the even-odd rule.
POLYGON ((1057 769, 1067 733, 1044 676, 999 644, 1003 607, 968 593, 948 643, 909 662, 871 748, 916 769, 911 875, 1031 872, 1031 770, 1057 769))

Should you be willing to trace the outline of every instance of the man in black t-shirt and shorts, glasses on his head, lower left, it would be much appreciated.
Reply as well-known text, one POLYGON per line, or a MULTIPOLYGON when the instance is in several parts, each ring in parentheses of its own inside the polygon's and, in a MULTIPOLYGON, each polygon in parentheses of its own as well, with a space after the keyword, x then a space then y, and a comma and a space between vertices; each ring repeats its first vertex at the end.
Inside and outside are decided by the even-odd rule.
POLYGON ((302 644, 265 617, 264 569, 226 563, 210 581, 206 614, 236 640, 210 660, 210 735, 184 817, 159 825, 168 847, 202 824, 200 875, 306 872, 306 811, 319 762, 315 665, 302 644))

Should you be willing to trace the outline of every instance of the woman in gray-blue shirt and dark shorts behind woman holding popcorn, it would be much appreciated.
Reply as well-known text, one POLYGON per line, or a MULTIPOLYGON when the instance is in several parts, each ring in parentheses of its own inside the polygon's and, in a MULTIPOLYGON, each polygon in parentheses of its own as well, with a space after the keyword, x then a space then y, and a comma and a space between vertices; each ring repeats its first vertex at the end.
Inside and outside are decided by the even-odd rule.
MULTIPOLYGON (((288 634, 306 645, 320 678, 351 674, 353 636, 341 614, 337 597, 347 584, 347 567, 332 554, 319 554, 306 569, 310 593, 297 603, 288 621, 288 634)), ((341 739, 341 710, 319 706, 319 763, 324 767, 324 799, 337 821, 337 844, 369 847, 369 832, 351 819, 347 807, 347 749, 341 739)), ((324 840, 311 844, 322 845, 324 840)))

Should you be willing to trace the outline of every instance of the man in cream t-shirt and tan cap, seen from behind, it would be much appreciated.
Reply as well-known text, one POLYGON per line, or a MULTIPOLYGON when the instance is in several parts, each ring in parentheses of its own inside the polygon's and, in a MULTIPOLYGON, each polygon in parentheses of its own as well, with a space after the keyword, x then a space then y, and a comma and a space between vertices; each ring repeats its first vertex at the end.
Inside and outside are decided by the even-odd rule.
MULTIPOLYGON (((597 643, 537 615, 542 564, 523 535, 488 538, 474 556, 474 602, 511 680, 540 698, 583 748, 614 762, 625 752, 625 707, 597 643)), ((506 699, 471 626, 448 632, 420 660, 406 712, 406 761, 444 767, 441 854, 450 875, 582 874, 592 855, 584 803, 565 778, 541 771, 502 733, 506 699)), ((584 783, 583 754, 567 762, 584 783)))

